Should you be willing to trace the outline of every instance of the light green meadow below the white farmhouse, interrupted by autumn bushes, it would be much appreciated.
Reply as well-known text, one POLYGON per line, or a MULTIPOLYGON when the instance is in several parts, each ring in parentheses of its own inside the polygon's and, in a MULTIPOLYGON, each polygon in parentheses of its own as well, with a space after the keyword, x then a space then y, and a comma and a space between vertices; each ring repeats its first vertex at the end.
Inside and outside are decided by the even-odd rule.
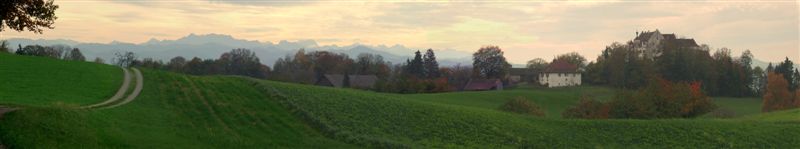
MULTIPOLYGON (((520 86, 503 91, 452 92, 438 94, 409 94, 403 98, 414 101, 442 103, 496 110, 514 97, 525 97, 545 110, 548 118, 561 118, 561 112, 578 103, 581 96, 608 101, 614 98, 615 90, 601 86, 579 86, 566 88, 540 88, 520 86)), ((712 97, 718 110, 734 116, 761 112, 761 99, 756 97, 731 98, 712 97)))

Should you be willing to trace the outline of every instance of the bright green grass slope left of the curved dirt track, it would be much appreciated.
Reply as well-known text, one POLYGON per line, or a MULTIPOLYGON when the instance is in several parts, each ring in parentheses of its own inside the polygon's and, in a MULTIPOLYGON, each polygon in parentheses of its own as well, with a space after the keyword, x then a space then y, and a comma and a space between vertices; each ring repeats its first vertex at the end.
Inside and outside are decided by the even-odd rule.
POLYGON ((0 104, 91 104, 111 97, 122 78, 115 66, 0 53, 0 104))

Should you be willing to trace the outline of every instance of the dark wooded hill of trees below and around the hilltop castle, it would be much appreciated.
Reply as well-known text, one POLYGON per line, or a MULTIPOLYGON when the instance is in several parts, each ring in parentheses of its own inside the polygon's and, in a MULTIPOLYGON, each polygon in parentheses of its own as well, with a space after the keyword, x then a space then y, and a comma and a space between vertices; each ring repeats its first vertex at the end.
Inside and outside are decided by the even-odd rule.
MULTIPOLYGON (((672 82, 701 82, 703 91, 712 96, 760 96, 766 71, 752 67, 753 54, 746 50, 740 56, 731 55, 728 48, 711 53, 708 45, 689 47, 664 43, 660 55, 643 56, 632 43, 613 43, 605 48, 596 61, 586 65, 583 81, 623 89, 647 85, 653 77, 672 82)), ((791 68, 789 68, 791 69, 791 68)), ((787 74, 791 70, 786 70, 787 74)), ((793 79, 788 79, 793 80, 793 79)))

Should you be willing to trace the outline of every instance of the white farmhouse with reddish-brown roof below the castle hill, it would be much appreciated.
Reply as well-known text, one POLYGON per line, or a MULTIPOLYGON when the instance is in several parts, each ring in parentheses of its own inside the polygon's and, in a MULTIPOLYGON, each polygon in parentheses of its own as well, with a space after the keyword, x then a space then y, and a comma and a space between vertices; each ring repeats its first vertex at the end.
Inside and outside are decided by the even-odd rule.
POLYGON ((581 73, 576 65, 554 61, 539 73, 539 84, 547 87, 578 86, 581 85, 581 73))

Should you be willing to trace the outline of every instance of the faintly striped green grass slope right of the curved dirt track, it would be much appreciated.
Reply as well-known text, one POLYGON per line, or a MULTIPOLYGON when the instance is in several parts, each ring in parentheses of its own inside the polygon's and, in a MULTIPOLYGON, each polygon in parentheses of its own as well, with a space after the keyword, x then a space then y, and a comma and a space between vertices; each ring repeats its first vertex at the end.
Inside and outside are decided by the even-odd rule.
POLYGON ((29 108, 0 120, 11 148, 347 147, 326 139, 238 77, 143 71, 145 88, 114 109, 29 108))

